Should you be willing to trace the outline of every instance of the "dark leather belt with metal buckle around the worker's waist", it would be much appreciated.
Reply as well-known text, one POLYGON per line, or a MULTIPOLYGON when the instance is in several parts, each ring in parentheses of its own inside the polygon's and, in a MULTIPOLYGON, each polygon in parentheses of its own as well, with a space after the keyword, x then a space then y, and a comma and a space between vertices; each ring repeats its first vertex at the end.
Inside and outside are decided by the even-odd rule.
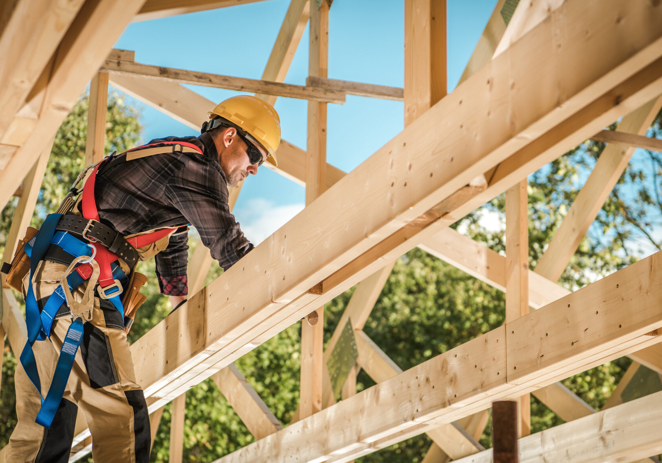
POLYGON ((62 216, 56 230, 68 231, 76 237, 83 237, 87 241, 101 243, 111 253, 117 254, 130 269, 138 263, 140 255, 124 237, 109 226, 105 226, 98 220, 86 219, 73 214, 62 216))

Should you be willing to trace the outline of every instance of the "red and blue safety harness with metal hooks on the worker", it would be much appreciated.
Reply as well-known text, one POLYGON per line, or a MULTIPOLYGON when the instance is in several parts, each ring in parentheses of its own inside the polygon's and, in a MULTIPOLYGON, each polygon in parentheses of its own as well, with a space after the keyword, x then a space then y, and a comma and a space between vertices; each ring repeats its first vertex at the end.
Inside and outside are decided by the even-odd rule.
POLYGON ((117 152, 112 153, 81 172, 57 212, 46 217, 39 232, 25 245, 25 252, 30 257, 30 276, 25 297, 28 340, 21 353, 21 364, 41 397, 41 409, 35 420, 39 425, 50 428, 58 411, 76 352, 83 339, 83 323, 92 319, 95 293, 99 298, 111 302, 124 316, 124 307, 119 296, 122 294, 122 282, 128 281, 129 275, 124 273, 117 261, 122 259, 128 264, 130 272, 134 271, 139 257, 136 249, 155 243, 179 228, 163 228, 125 239, 117 231, 102 224, 94 198, 97 173, 102 167, 107 169, 132 159, 165 153, 168 148, 171 148, 172 152, 203 154, 199 147, 187 142, 161 142, 138 146, 120 155, 117 155, 117 152), (83 181, 89 169, 92 169, 89 178, 84 182, 83 188, 78 189, 79 183, 83 181), (82 218, 70 214, 76 204, 75 198, 81 192, 82 218), (51 245, 60 247, 72 260, 60 279, 55 280, 58 286, 40 310, 32 289, 32 278, 51 245), (71 296, 71 290, 75 290, 86 280, 87 286, 83 298, 81 302, 77 302, 71 296), (60 358, 48 394, 44 398, 32 345, 35 341, 43 341, 50 336, 53 320, 62 304, 68 307, 69 313, 66 315, 71 316, 73 321, 62 342, 60 358))

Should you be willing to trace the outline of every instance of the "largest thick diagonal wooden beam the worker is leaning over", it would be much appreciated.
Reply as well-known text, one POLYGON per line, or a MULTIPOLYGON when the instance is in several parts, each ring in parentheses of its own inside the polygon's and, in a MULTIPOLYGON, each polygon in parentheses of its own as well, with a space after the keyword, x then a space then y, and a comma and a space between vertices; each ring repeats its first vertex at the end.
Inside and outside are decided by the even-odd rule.
MULTIPOLYGON (((610 1, 615 2, 614 8, 620 5, 610 1)), ((553 53, 530 53, 530 48, 539 50, 540 44, 551 43, 561 33, 551 28, 557 24, 554 21, 540 24, 246 255, 240 265, 134 343, 138 382, 147 396, 158 399, 150 399, 151 406, 158 408, 180 390, 208 378, 236 356, 301 319, 306 310, 310 312, 310 305, 314 308, 330 300, 483 204, 487 196, 525 178, 609 121, 642 105, 652 94, 662 93, 662 69, 656 67, 662 50, 655 42, 661 28, 621 22, 619 28, 630 27, 638 37, 634 48, 628 45, 624 52, 623 37, 630 35, 616 37, 612 33, 615 23, 598 13, 585 14, 586 3, 579 5, 577 0, 568 1, 553 15, 565 18, 563 34, 587 30, 596 40, 568 40, 553 53), (522 69, 510 69, 512 54, 527 56, 522 69), (598 55, 606 60, 586 65, 598 55), (616 66, 618 72, 613 71, 616 66), (510 69, 510 80, 494 78, 504 75, 506 69, 510 69), (493 83, 489 95, 498 98, 479 91, 487 80, 493 83), (520 87, 511 93, 512 81, 520 82, 520 87), (528 82, 536 85, 525 85, 528 82), (567 89, 565 103, 559 106, 557 98, 548 99, 553 92, 545 85, 567 89), (613 95, 621 96, 616 106, 613 95), (498 105, 491 106, 492 98, 498 105), (538 105, 532 108, 531 101, 538 105), (490 108, 490 117, 485 108, 490 108), (513 112, 518 114, 516 128, 504 125, 513 112), (457 122, 471 124, 487 138, 478 142, 457 129, 439 130, 446 124, 455 127, 457 122), (465 146, 463 156, 455 159, 460 142, 465 146), (436 220, 424 228, 403 228, 480 171, 498 163, 489 187, 456 206, 446 214, 448 218, 433 215, 436 220), (456 215, 459 217, 454 218, 456 215), (328 226, 313 233, 321 218, 328 226), (243 289, 249 280, 251 290, 246 292, 243 289), (320 280, 323 294, 308 294, 320 280), (234 295, 232 301, 228 294, 234 295), (217 317, 220 313, 224 316, 217 317), (199 333, 205 333, 204 337, 199 333)), ((655 7, 629 6, 628 15, 662 22, 655 7)))

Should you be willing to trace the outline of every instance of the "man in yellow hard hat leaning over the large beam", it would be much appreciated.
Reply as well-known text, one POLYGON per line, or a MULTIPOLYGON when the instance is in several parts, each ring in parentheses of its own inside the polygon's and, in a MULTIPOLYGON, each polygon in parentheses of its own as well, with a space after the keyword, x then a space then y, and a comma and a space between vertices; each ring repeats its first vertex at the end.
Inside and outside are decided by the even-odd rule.
MULTIPOLYGON (((280 143, 279 116, 268 103, 242 95, 220 103, 213 112, 209 112, 209 118, 203 124, 203 133, 197 138, 152 140, 144 147, 107 158, 97 168, 98 171, 93 171, 86 183, 87 190, 81 194, 82 200, 79 198, 73 211, 62 216, 59 222, 56 218, 56 230, 60 230, 60 235, 56 233, 52 242, 48 238, 48 250, 33 272, 34 300, 42 314, 46 311, 49 298, 56 294, 58 283, 64 280, 62 274, 74 260, 73 251, 66 245, 68 239, 78 239, 84 245, 89 245, 85 239, 91 241, 91 246, 95 248, 95 261, 90 268, 97 269, 98 262, 102 274, 103 259, 99 255, 109 252, 101 245, 102 238, 94 239, 89 230, 85 230, 88 233, 77 228, 74 230, 63 220, 83 221, 87 223, 86 229, 92 224, 90 230, 101 230, 102 235, 112 235, 117 231, 121 236, 115 238, 116 243, 124 243, 124 249, 131 248, 128 243, 132 243, 140 260, 156 254, 156 274, 161 292, 169 296, 173 308, 186 300, 188 292, 188 236, 183 227, 187 224, 195 226, 202 243, 209 247, 212 257, 224 269, 253 248, 230 214, 227 187, 238 185, 250 174, 256 175, 263 161, 276 165, 275 150, 280 143), (91 194, 92 205, 96 203, 91 217, 98 212, 97 220, 85 222, 90 218, 89 196, 86 206, 85 194, 91 194), (147 245, 140 246, 137 241, 132 241, 154 233, 160 233, 159 238, 147 245)), ((40 234, 44 228, 46 224, 40 234)), ((71 246, 78 244, 75 241, 71 246)), ((36 253, 38 244, 34 241, 31 245, 30 249, 36 253)), ((29 247, 26 246, 26 249, 29 247)), ((85 319, 87 323, 81 327, 81 349, 78 353, 73 351, 73 369, 62 400, 53 407, 52 417, 45 421, 42 417, 42 414, 48 413, 40 411, 44 407, 38 385, 40 383, 41 394, 48 390, 50 397, 50 384, 56 383, 56 380, 51 382, 51 378, 54 378, 58 351, 61 358, 66 357, 62 352, 66 351, 71 327, 81 323, 79 318, 74 320, 71 317, 73 306, 80 304, 71 302, 71 305, 65 300, 66 304, 63 303, 58 309, 52 327, 42 326, 46 335, 50 334, 50 341, 33 341, 34 362, 41 381, 38 378, 35 381, 30 376, 29 362, 26 362, 28 366, 25 368, 17 368, 15 383, 19 422, 9 441, 8 462, 67 462, 78 407, 85 414, 92 434, 95 461, 148 462, 148 410, 144 394, 136 382, 124 331, 130 321, 124 317, 126 312, 122 311, 123 308, 118 310, 117 303, 113 302, 117 300, 117 294, 111 294, 111 291, 118 291, 114 288, 115 282, 122 286, 122 291, 130 291, 128 286, 133 286, 129 284, 132 281, 132 267, 129 268, 130 265, 125 262, 127 257, 124 253, 121 253, 121 258, 118 257, 122 249, 113 249, 112 255, 117 259, 110 280, 112 284, 105 288, 96 287, 91 319, 85 319), (116 274, 117 278, 113 280, 116 274), (35 423, 35 419, 42 425, 35 423), (52 423, 49 421, 51 419, 52 423)), ((29 277, 24 278, 24 294, 30 292, 28 280, 29 277)), ((100 276, 99 282, 102 281, 100 276)), ((78 303, 85 300, 85 284, 83 282, 78 288, 71 288, 78 303)), ((26 307, 28 299, 29 294, 26 307)), ((55 300, 59 306, 60 300, 55 300)), ((44 319, 44 316, 41 318, 44 319)), ((28 350, 29 347, 26 345, 28 350)))

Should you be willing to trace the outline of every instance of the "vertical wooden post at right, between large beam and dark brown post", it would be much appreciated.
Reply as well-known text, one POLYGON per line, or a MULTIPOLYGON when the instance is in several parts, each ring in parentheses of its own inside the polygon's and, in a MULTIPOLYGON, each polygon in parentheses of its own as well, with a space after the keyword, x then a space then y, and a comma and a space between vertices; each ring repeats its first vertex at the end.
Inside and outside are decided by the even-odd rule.
MULTIPOLYGON (((528 183, 506 190, 506 323, 529 313, 528 183)), ((518 435, 531 433, 531 396, 520 403, 518 435)))

